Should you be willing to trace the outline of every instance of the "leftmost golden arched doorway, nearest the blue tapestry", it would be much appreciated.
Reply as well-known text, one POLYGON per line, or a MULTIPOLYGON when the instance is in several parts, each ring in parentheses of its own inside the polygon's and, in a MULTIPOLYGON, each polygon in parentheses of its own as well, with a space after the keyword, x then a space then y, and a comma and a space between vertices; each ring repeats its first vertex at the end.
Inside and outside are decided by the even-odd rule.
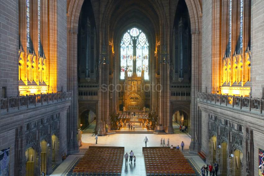
POLYGON ((34 176, 36 152, 30 147, 25 152, 26 155, 26 176, 34 176))

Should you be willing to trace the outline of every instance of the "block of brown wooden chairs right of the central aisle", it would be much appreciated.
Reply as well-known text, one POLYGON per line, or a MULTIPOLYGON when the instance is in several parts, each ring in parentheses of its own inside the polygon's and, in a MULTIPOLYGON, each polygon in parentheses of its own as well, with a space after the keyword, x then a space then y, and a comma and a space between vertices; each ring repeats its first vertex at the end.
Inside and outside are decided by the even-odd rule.
POLYGON ((193 176, 195 172, 181 151, 143 147, 147 175, 193 176))

